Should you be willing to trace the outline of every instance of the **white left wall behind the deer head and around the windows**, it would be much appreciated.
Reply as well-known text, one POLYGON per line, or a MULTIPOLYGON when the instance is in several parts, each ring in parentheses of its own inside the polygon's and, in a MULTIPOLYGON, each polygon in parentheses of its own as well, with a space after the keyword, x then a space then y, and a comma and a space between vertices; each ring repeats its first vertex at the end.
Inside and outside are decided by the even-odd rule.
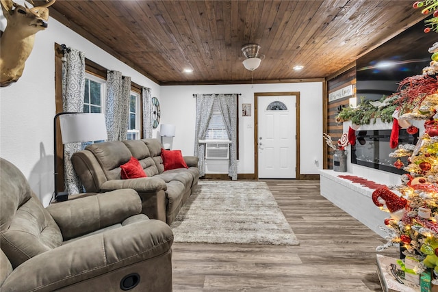
MULTIPOLYGON (((1 18, 3 30, 3 15, 1 18)), ((159 98, 160 91, 159 85, 150 79, 49 18, 49 27, 36 34, 23 76, 17 83, 0 89, 0 157, 23 172, 44 205, 49 204, 53 193, 55 42, 83 51, 93 62, 152 88, 153 96, 159 98)))

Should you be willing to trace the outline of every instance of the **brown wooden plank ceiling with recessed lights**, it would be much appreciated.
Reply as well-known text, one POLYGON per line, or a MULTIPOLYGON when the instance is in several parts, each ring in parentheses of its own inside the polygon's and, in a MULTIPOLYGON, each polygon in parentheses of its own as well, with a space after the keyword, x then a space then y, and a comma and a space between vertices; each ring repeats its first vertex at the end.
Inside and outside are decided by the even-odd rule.
POLYGON ((219 84, 251 81, 241 48, 253 42, 256 82, 328 77, 424 19, 412 4, 57 0, 50 15, 161 85, 219 84))

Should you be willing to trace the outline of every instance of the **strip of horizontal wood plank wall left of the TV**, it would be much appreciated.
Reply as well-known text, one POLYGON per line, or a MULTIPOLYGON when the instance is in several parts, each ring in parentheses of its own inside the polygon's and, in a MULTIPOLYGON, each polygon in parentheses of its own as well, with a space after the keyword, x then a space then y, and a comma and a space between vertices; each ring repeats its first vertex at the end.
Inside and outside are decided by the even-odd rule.
MULTIPOLYGON (((342 122, 336 122, 336 116, 339 113, 339 107, 345 106, 348 107, 349 99, 352 97, 356 97, 356 66, 342 72, 337 75, 333 79, 327 81, 327 95, 331 94, 331 92, 335 92, 341 88, 344 88, 348 85, 353 85, 353 95, 346 96, 344 98, 339 98, 335 101, 331 101, 327 103, 327 124, 326 124, 326 133, 329 134, 334 143, 339 140, 342 136, 342 122)), ((329 96, 326 97, 327 101, 329 100, 329 96)), ((335 153, 332 148, 325 144, 324 140, 324 152, 326 152, 326 165, 327 169, 333 169, 333 154, 335 153)))

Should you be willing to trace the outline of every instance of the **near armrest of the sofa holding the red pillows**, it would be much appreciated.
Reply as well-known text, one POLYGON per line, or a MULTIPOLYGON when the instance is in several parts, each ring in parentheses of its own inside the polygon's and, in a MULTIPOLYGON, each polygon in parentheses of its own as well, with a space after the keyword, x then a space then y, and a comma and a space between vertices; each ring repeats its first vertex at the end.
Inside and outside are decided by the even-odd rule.
POLYGON ((155 193, 160 190, 166 191, 167 185, 161 178, 142 177, 129 179, 113 179, 101 185, 101 191, 114 189, 135 189, 139 193, 155 193))

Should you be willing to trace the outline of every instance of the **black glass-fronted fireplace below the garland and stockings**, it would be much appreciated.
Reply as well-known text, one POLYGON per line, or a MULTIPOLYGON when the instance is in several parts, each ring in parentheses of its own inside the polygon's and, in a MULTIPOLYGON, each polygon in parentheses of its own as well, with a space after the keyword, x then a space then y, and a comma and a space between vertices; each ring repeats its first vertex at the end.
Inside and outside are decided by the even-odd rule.
MULTIPOLYGON (((398 132, 399 144, 417 144, 418 133, 410 135, 405 129, 398 132)), ((403 168, 396 168, 394 162, 397 158, 389 157, 394 152, 389 146, 391 130, 356 131, 356 144, 351 147, 351 163, 375 168, 395 174, 405 174, 403 168)), ((400 157, 404 165, 408 165, 407 157, 400 157)))

